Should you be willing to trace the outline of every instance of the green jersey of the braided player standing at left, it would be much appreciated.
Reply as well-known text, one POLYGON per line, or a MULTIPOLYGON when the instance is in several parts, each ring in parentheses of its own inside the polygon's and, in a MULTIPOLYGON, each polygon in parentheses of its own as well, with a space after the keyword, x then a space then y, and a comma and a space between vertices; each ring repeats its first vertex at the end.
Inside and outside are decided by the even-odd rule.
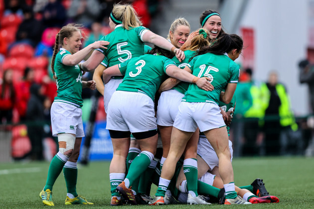
POLYGON ((54 61, 54 72, 57 76, 57 96, 54 101, 82 107, 82 71, 78 65, 67 66, 62 63, 63 58, 69 54, 69 51, 60 48, 54 61))

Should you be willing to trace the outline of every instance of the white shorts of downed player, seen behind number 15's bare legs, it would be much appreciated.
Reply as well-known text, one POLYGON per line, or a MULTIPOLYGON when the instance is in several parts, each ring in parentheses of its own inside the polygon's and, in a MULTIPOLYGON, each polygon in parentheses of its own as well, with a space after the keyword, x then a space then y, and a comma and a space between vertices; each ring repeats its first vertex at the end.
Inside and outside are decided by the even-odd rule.
MULTIPOLYGON (((231 153, 231 162, 232 162, 232 142, 229 140, 229 149, 231 153)), ((199 137, 197 144, 197 155, 199 155, 209 166, 210 170, 213 170, 215 166, 219 165, 218 156, 210 145, 208 140, 205 137, 199 137)))

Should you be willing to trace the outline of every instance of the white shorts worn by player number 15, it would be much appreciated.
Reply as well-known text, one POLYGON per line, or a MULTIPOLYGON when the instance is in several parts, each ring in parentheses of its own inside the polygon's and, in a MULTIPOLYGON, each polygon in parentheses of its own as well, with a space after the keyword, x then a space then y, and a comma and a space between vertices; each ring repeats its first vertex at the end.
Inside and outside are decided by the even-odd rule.
POLYGON ((173 127, 186 132, 201 132, 226 126, 217 104, 211 102, 181 102, 173 127))

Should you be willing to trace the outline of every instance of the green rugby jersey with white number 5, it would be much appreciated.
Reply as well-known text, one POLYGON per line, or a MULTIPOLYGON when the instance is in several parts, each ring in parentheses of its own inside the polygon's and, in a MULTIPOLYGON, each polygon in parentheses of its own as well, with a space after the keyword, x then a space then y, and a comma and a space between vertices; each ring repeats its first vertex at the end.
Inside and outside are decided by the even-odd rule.
MULTIPOLYGON (((122 24, 116 26, 115 30, 105 35, 100 40, 109 41, 107 49, 98 48, 108 59, 109 66, 113 66, 144 54, 144 42, 142 37, 149 29, 144 26, 132 28, 130 30, 122 27, 122 24)), ((121 76, 115 78, 122 79, 121 76)))

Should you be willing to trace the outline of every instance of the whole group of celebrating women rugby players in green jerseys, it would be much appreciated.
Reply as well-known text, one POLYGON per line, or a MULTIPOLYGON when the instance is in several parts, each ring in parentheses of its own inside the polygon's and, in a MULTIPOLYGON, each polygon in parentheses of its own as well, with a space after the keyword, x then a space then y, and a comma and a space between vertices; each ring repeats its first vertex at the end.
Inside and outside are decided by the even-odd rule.
POLYGON ((192 33, 186 19, 178 18, 167 39, 142 26, 129 4, 116 4, 109 19, 113 31, 82 50, 77 25, 62 27, 56 36, 51 124, 59 152, 39 195, 43 204, 54 206, 52 188, 62 170, 65 204, 93 204, 76 192, 85 87, 104 96, 114 149, 111 206, 278 203, 261 179, 244 187, 234 183, 228 126, 240 73, 234 60, 243 40, 222 30, 220 14, 205 10, 201 28, 192 33), (93 80, 82 81, 82 72, 92 70, 93 80), (154 199, 152 183, 158 186, 154 199))

